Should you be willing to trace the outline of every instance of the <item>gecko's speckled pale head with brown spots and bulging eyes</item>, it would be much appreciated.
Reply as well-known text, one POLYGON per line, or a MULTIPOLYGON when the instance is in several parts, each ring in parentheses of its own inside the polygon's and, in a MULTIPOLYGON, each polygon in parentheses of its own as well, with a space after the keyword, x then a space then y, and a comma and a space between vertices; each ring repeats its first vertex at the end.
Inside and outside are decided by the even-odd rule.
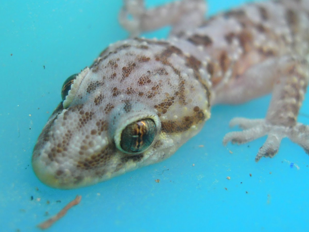
POLYGON ((43 183, 82 187, 161 161, 209 117, 196 79, 183 79, 145 47, 137 54, 120 46, 63 84, 62 101, 33 150, 43 183))

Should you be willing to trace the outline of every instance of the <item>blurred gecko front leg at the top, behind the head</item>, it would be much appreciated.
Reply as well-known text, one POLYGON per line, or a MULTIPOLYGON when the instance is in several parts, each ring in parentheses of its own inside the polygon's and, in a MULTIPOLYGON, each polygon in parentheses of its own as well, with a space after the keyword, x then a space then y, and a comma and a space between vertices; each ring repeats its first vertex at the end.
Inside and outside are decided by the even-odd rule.
POLYGON ((205 20, 206 3, 204 0, 183 0, 164 6, 146 9, 143 0, 124 0, 119 13, 119 23, 137 37, 141 32, 151 31, 171 25, 171 35, 197 28, 205 20), (129 19, 131 16, 131 19, 129 19))

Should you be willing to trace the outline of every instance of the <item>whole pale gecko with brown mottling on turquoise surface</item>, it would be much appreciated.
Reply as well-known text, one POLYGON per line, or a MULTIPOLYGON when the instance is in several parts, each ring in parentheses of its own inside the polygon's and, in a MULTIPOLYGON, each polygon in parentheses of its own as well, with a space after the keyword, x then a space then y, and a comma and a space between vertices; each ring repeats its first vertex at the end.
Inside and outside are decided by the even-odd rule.
POLYGON ((32 166, 43 183, 76 188, 162 161, 201 130, 210 106, 269 92, 266 117, 232 119, 243 131, 223 144, 268 135, 256 161, 284 137, 309 152, 309 127, 297 122, 309 79, 308 0, 251 3, 207 21, 203 0, 148 10, 124 2, 119 19, 132 38, 65 81, 37 140, 32 166), (167 40, 136 37, 165 25, 167 40))

